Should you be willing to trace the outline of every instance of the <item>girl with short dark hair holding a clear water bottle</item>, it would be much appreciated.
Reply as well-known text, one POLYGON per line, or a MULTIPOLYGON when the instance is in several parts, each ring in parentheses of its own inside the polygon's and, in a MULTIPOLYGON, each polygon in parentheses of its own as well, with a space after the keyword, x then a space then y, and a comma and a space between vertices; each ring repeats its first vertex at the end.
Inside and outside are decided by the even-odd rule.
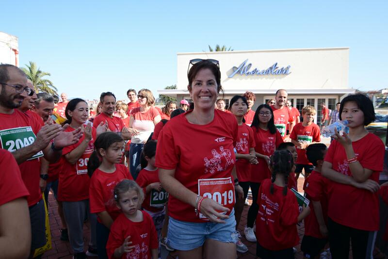
POLYGON ((325 156, 322 175, 331 180, 328 208, 330 252, 333 258, 353 255, 372 257, 379 229, 379 174, 383 170, 384 144, 365 129, 375 120, 369 97, 349 95, 342 99, 339 119, 347 120, 349 134, 337 131, 325 156))

